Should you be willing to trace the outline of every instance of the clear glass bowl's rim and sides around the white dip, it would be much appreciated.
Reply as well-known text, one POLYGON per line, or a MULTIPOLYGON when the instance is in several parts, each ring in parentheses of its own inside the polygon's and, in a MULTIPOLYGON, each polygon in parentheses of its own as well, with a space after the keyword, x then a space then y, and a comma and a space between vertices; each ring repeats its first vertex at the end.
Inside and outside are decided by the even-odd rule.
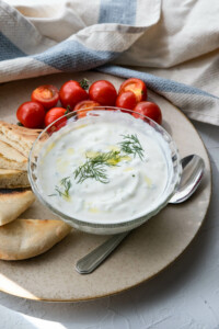
MULTIPOLYGON (((130 110, 124 110, 124 109, 112 107, 112 106, 96 106, 96 107, 92 107, 91 111, 89 111, 89 109, 80 110, 80 115, 77 112, 70 112, 67 115, 55 121, 48 127, 46 127, 33 144, 28 157, 28 179, 33 192, 36 194, 37 198, 45 206, 47 206, 55 215, 59 216, 64 222, 68 223, 69 225, 71 225, 72 227, 79 230, 91 232, 91 234, 112 235, 112 234, 118 234, 118 232, 134 229, 140 226, 141 224, 143 224, 145 222, 147 222, 155 214, 158 214, 169 203, 170 198, 172 197, 175 190, 177 189, 177 185, 181 180, 182 167, 181 167, 180 156, 175 143, 162 126, 158 125, 155 122, 153 122, 147 116, 143 116, 142 114, 139 114, 139 118, 134 118, 134 116, 130 115, 134 111, 130 110), (166 161, 166 168, 168 168, 168 180, 166 180, 164 191, 159 196, 159 200, 157 200, 157 202, 152 204, 149 208, 146 208, 137 216, 131 215, 128 216, 127 218, 123 218, 122 220, 119 218, 113 218, 113 216, 110 220, 104 220, 104 222, 100 219, 96 220, 95 218, 89 220, 88 218, 81 219, 79 217, 77 218, 76 215, 72 217, 69 214, 66 214, 64 208, 60 208, 56 204, 54 204, 51 202, 51 198, 47 197, 50 195, 45 195, 44 190, 42 189, 38 170, 41 170, 41 166, 47 166, 42 161, 42 154, 44 152, 45 156, 44 145, 48 145, 48 140, 51 141, 51 144, 54 144, 54 140, 60 137, 62 133, 66 135, 68 134, 68 132, 76 128, 73 127, 72 122, 73 123, 77 122, 78 124, 87 116, 101 117, 101 115, 103 115, 104 113, 105 114, 108 113, 108 111, 111 111, 111 113, 112 111, 115 112, 115 115, 117 115, 115 116, 116 120, 119 118, 119 115, 122 115, 122 117, 124 117, 125 115, 127 120, 129 120, 131 116, 131 120, 138 121, 138 124, 140 121, 141 125, 143 125, 143 128, 154 131, 155 134, 158 134, 161 144, 163 143, 165 144, 166 146, 165 149, 162 148, 161 146, 164 159, 166 161)), ((46 168, 46 170, 47 169, 49 170, 49 168, 46 168)))

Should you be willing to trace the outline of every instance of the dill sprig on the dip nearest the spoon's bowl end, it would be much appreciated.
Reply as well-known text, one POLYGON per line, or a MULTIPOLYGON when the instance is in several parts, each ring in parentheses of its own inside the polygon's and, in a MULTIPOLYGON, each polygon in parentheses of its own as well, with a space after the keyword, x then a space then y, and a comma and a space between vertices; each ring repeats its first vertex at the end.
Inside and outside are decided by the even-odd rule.
POLYGON ((143 149, 140 145, 140 141, 137 137, 137 135, 122 135, 124 137, 124 140, 119 143, 120 150, 127 155, 136 155, 139 156, 139 158, 143 159, 143 149))

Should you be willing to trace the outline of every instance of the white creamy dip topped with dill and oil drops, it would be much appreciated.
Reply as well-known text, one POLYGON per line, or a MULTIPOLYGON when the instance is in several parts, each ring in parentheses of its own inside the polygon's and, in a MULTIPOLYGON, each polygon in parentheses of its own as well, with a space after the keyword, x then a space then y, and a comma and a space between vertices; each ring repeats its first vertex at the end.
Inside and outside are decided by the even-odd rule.
POLYGON ((168 174, 172 174, 168 143, 149 124, 130 114, 92 113, 68 122, 44 144, 36 167, 37 186, 47 203, 77 219, 118 223, 140 217, 163 198, 168 174), (140 147, 140 155, 124 151, 124 141, 140 147), (92 173, 93 164, 85 164, 99 156, 113 157, 94 168, 102 169, 104 182, 99 181, 99 174, 83 175, 92 173))

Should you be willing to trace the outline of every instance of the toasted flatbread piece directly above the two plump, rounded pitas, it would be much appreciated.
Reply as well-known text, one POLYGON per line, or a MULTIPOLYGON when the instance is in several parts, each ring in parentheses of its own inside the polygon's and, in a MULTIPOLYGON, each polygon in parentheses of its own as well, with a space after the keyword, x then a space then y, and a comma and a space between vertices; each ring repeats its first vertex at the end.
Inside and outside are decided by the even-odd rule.
POLYGON ((27 172, 14 169, 0 169, 0 189, 30 186, 27 172))

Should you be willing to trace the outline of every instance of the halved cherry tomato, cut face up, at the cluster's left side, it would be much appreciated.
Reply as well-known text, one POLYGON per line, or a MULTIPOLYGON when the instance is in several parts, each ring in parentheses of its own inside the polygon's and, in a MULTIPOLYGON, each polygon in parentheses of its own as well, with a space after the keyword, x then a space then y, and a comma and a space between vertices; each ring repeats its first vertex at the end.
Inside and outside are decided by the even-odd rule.
POLYGON ((44 109, 49 110, 56 106, 58 102, 58 89, 53 84, 39 86, 32 92, 31 99, 33 102, 41 103, 44 109))

